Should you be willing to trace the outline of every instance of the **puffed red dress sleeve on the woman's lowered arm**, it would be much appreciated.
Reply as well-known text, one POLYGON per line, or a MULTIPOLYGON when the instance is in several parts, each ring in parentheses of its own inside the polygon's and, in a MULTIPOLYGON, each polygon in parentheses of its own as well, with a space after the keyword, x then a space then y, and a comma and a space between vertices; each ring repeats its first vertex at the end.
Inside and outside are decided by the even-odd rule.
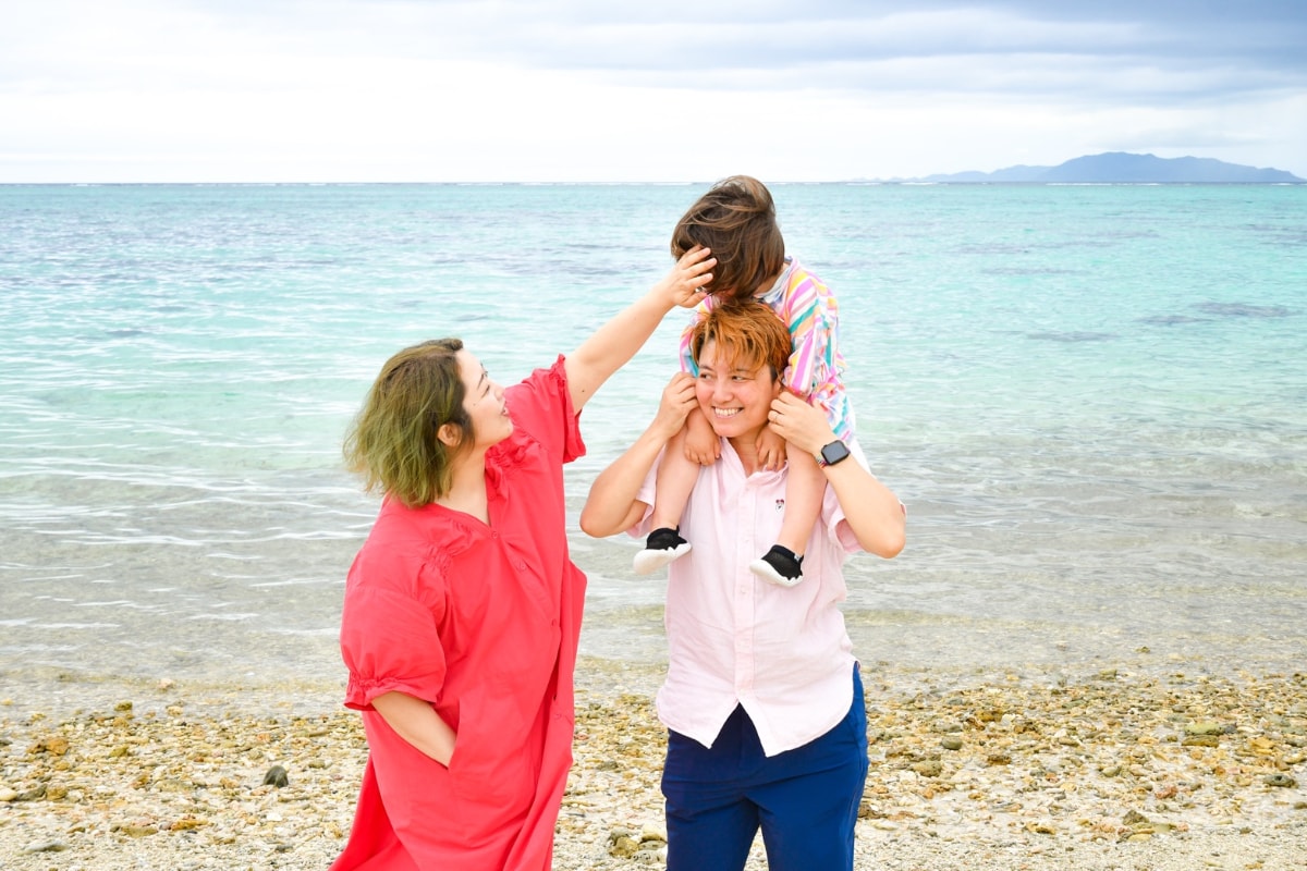
POLYGON ((352 581, 340 627, 345 706, 371 710, 374 699, 395 691, 438 701, 446 671, 438 618, 401 592, 352 581))

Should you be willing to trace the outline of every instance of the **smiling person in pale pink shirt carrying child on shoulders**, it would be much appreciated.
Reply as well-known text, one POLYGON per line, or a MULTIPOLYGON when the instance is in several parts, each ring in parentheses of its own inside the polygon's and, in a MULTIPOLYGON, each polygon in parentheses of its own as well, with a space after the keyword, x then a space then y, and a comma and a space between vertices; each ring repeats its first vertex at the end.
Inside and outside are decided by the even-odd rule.
POLYGON ((759 303, 712 311, 695 326, 698 377, 678 373, 654 422, 591 487, 591 535, 647 534, 657 462, 691 407, 721 439, 699 471, 682 528, 694 550, 668 567, 669 666, 657 696, 668 726, 663 774, 668 868, 738 871, 762 829, 774 870, 852 868, 867 778, 867 717, 839 602, 844 558, 903 548, 903 505, 833 432, 784 392, 789 333, 759 303), (758 457, 765 424, 826 475, 805 581, 766 584, 749 571, 775 541, 787 469, 758 457))

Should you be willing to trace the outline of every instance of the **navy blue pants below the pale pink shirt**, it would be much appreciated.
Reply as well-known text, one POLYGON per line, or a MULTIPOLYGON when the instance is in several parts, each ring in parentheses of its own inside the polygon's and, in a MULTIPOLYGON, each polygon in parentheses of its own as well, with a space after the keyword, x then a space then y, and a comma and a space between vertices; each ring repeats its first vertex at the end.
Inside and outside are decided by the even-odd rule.
POLYGON ((708 750, 668 733, 668 871, 740 871, 758 829, 771 871, 853 867, 853 825, 867 784, 867 708, 853 666, 853 704, 829 733, 767 757, 744 708, 708 750))

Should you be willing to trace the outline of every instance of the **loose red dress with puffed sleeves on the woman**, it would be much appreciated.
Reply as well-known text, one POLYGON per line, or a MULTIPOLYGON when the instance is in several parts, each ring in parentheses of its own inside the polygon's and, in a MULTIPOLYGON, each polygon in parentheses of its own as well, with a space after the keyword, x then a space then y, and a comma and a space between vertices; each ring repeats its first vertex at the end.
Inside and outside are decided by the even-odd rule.
POLYGON ((486 452, 490 525, 387 500, 350 567, 345 705, 369 757, 332 871, 548 871, 571 767, 586 576, 567 554, 565 462, 584 454, 559 356, 506 392, 514 432, 486 452), (450 767, 371 701, 425 699, 457 734, 450 767))

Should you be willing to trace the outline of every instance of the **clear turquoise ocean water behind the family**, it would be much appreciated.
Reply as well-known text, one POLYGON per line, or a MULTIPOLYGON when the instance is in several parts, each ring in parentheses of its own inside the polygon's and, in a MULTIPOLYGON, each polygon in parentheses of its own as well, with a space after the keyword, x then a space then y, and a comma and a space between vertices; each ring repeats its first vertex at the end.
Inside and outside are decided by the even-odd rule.
MULTIPOLYGON (((380 363, 450 334, 501 381, 550 363, 704 187, 0 187, 0 675, 342 679, 376 500, 340 440, 380 363)), ((1307 188, 774 193, 910 512, 848 564, 864 662, 1307 662, 1307 188)), ((682 323, 587 407, 574 518, 682 323)), ((637 543, 571 542, 583 653, 659 662, 637 543)))

